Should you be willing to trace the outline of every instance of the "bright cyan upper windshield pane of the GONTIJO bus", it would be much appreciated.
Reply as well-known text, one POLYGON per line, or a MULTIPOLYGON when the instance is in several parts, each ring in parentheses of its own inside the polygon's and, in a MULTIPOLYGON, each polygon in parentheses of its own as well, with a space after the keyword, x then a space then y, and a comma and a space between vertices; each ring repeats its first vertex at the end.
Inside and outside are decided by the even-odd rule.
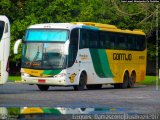
POLYGON ((67 30, 56 29, 28 29, 25 36, 25 41, 65 42, 67 39, 67 30))

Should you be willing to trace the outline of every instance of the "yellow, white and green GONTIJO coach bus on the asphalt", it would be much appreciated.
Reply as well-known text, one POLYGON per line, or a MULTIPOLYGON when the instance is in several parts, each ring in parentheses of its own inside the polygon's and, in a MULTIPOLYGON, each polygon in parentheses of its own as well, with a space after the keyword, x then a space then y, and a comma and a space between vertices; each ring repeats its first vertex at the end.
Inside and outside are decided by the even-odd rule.
POLYGON ((22 41, 22 81, 47 91, 50 86, 131 88, 146 74, 142 30, 122 30, 94 22, 45 23, 28 27, 22 41))

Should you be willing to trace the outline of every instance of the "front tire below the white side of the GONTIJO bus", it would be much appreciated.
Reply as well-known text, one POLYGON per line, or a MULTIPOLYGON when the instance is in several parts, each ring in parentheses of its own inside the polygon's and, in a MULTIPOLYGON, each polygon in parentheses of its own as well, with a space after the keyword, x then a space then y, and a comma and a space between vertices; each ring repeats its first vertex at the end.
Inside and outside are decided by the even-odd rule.
POLYGON ((80 78, 79 78, 79 85, 73 86, 74 90, 75 91, 82 91, 82 90, 84 90, 84 88, 86 86, 86 83, 87 83, 87 75, 86 75, 85 72, 82 72, 81 75, 80 75, 80 78))

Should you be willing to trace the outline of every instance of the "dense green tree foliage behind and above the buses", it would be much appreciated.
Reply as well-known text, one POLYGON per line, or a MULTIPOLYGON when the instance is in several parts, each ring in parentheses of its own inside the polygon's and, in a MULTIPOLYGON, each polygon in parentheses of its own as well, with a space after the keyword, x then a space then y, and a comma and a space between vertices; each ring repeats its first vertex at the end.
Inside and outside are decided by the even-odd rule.
MULTIPOLYGON (((24 39, 25 30, 32 24, 91 21, 121 29, 142 29, 147 36, 156 26, 155 4, 122 4, 119 0, 1 0, 0 14, 11 22, 11 61, 21 58, 21 54, 13 55, 13 46, 17 39, 24 39)), ((152 57, 154 44, 148 46, 152 57)))

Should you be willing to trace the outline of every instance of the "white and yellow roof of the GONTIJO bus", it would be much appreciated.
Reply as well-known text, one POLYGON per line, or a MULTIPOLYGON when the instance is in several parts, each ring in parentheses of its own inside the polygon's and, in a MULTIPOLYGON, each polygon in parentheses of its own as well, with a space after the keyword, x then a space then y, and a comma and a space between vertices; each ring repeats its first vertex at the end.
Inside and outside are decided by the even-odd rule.
POLYGON ((135 29, 135 30, 122 30, 117 28, 114 25, 110 24, 102 24, 102 23, 94 23, 94 22, 72 22, 72 23, 44 23, 44 24, 35 24, 31 25, 31 28, 57 28, 57 29, 73 29, 73 28, 88 28, 88 29, 96 29, 96 30, 103 30, 109 32, 118 32, 118 33, 128 33, 128 34, 138 34, 138 35, 145 35, 142 30, 135 29))

